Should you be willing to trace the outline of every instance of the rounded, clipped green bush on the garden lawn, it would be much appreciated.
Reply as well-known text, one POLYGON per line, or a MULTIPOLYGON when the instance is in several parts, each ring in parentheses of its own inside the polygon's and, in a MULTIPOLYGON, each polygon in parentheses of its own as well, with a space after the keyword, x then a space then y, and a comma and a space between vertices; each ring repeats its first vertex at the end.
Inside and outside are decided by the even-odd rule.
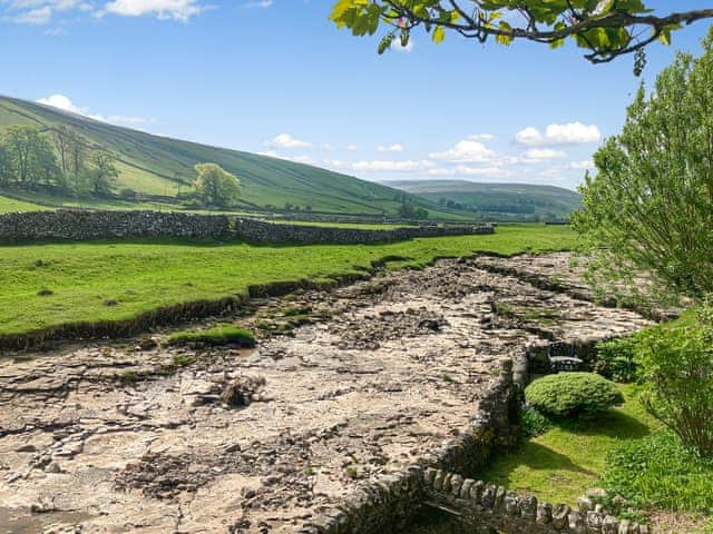
POLYGON ((600 414, 624 403, 614 383, 594 373, 560 373, 538 378, 525 389, 527 404, 554 417, 600 414))

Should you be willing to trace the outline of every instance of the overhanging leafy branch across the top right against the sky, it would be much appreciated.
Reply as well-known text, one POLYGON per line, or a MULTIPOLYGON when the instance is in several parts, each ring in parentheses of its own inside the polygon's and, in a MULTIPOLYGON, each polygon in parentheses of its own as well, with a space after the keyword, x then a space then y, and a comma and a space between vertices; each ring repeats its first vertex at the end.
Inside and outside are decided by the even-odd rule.
MULTIPOLYGON (((638 52, 653 41, 668 44, 671 32, 713 18, 713 9, 655 16, 644 0, 339 0, 330 19, 354 36, 374 34, 385 27, 379 44, 383 53, 398 39, 408 44, 423 28, 433 42, 446 32, 500 44, 529 40, 557 48, 572 38, 586 48, 594 63, 638 52), (648 31, 645 31, 648 30, 648 31)), ((641 68, 641 57, 638 67, 641 68)))

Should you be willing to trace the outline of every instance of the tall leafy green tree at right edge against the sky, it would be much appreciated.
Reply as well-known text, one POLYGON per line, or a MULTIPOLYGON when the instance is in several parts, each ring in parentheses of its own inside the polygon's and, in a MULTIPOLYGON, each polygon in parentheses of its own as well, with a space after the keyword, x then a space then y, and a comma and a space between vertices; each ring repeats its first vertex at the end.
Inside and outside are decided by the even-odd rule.
POLYGON ((713 291, 712 109, 713 29, 701 58, 680 53, 653 93, 642 86, 622 134, 594 156, 573 222, 597 259, 595 283, 636 294, 647 271, 658 290, 713 291))

